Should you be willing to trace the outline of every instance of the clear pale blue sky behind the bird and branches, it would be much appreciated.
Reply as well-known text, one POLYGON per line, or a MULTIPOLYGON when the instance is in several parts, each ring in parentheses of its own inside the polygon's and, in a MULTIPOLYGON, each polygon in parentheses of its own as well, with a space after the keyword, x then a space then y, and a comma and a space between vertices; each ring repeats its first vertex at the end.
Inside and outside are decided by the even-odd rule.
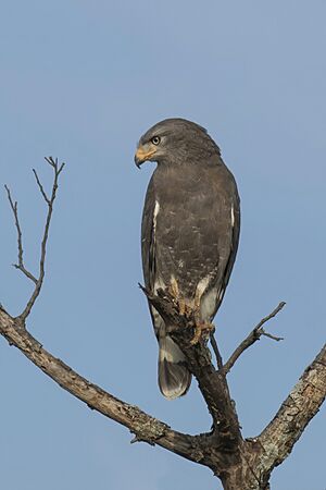
MULTIPOLYGON (((216 324, 224 357, 279 301, 229 376, 243 434, 258 434, 325 340, 326 4, 322 0, 7 1, 0 12, 0 182, 18 198, 26 264, 45 206, 32 168, 66 161, 47 279, 28 321, 46 348, 173 428, 210 428, 196 382, 165 401, 141 281, 139 231, 154 168, 139 136, 166 117, 205 126, 236 175, 242 231, 216 324)), ((0 194, 0 301, 32 284, 11 268, 16 237, 0 194)), ((221 489, 208 468, 90 412, 0 341, 1 488, 221 489)), ((273 473, 277 490, 325 489, 325 409, 273 473)))

